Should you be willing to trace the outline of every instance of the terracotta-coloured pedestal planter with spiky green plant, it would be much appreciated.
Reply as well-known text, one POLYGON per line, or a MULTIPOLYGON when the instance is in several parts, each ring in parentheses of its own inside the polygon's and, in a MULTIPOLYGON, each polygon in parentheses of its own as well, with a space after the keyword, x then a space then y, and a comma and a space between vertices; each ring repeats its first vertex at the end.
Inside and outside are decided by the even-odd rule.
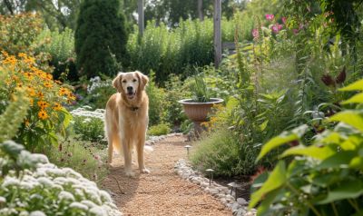
POLYGON ((191 99, 183 99, 179 103, 182 103, 184 112, 194 123, 195 134, 199 136, 202 132, 201 123, 207 122, 211 107, 214 104, 223 103, 223 100, 221 98, 211 98, 202 74, 194 76, 191 93, 191 99))

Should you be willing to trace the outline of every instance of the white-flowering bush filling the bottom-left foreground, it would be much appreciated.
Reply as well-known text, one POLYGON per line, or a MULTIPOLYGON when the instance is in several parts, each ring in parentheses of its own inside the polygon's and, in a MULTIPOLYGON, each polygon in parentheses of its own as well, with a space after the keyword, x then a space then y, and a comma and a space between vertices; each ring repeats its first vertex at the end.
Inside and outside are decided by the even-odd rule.
POLYGON ((121 215, 110 194, 15 142, 0 144, 0 215, 121 215))

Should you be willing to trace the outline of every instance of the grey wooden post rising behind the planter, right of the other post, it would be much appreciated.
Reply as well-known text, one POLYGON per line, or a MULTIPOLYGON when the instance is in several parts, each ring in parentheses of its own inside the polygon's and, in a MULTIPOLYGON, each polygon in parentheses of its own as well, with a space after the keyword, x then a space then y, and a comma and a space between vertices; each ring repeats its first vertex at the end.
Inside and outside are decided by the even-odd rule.
POLYGON ((214 0, 214 64, 218 68, 221 64, 221 0, 214 0))

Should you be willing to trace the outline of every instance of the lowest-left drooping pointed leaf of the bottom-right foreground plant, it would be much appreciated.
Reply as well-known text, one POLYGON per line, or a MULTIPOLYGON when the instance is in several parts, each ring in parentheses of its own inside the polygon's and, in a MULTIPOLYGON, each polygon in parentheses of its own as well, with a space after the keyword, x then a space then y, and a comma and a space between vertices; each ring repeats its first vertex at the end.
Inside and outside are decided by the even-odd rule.
POLYGON ((263 183, 259 191, 252 193, 249 207, 252 208, 270 191, 279 189, 286 182, 285 162, 280 161, 270 173, 269 179, 263 183))

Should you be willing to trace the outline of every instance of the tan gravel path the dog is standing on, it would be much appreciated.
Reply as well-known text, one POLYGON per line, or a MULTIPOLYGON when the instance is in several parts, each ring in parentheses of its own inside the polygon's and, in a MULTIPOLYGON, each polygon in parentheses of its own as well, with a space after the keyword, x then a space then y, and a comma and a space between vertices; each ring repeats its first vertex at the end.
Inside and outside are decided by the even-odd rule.
MULTIPOLYGON (((145 155, 146 167, 152 173, 136 172, 135 178, 124 176, 123 161, 118 155, 115 157, 103 188, 112 191, 113 200, 124 215, 231 215, 220 201, 173 172, 175 162, 186 157, 184 140, 173 136, 153 145, 154 151, 145 155)), ((134 164, 133 169, 136 168, 134 164)))

